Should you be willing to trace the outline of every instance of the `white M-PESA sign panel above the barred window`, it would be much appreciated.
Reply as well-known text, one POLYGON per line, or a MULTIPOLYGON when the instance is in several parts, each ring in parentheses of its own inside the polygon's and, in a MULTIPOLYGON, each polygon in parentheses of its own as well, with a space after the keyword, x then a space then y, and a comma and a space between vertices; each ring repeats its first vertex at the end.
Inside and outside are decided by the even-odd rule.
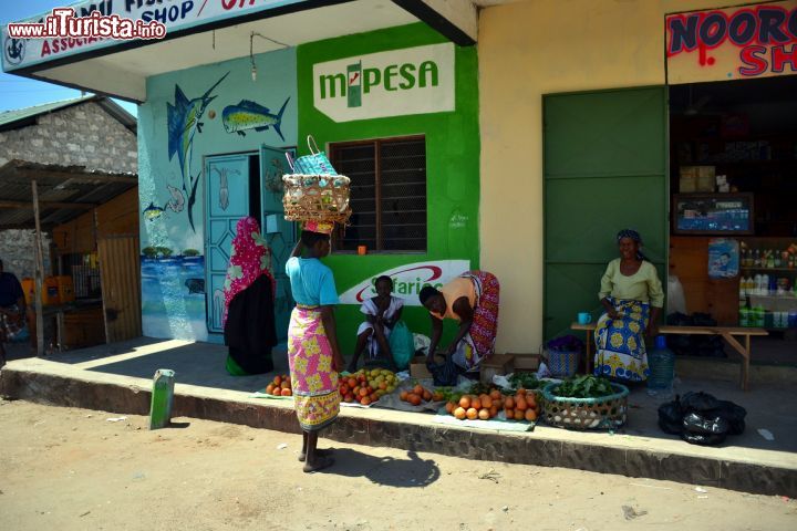
POLYGON ((454 111, 454 44, 314 64, 313 104, 335 122, 454 111))

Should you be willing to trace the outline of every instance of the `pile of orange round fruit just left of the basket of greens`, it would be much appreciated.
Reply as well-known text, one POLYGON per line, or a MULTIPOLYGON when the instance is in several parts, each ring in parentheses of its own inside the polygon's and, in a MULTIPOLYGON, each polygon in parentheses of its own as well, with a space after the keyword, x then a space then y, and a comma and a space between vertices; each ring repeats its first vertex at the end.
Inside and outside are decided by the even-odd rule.
POLYGON ((459 420, 489 420, 504 409, 507 420, 536 420, 540 412, 537 397, 526 389, 518 389, 514 396, 504 396, 498 389, 490 391, 489 395, 464 395, 458 403, 446 403, 446 412, 459 420))

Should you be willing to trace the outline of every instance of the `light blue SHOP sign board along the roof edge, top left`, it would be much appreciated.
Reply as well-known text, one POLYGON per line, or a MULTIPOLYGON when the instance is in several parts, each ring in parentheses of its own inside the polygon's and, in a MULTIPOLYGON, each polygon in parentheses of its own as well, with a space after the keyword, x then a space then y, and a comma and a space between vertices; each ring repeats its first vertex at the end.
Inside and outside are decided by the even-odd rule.
MULTIPOLYGON (((307 0, 87 0, 63 6, 75 10, 76 17, 89 17, 99 12, 105 17, 157 21, 166 25, 167 34, 197 25, 234 19, 259 11, 268 11, 283 6, 302 3, 307 0)), ((18 22, 44 22, 51 12, 18 22)), ((38 63, 45 63, 68 55, 114 46, 124 41, 101 37, 53 38, 53 39, 11 39, 8 27, 2 27, 2 66, 11 72, 38 63)))

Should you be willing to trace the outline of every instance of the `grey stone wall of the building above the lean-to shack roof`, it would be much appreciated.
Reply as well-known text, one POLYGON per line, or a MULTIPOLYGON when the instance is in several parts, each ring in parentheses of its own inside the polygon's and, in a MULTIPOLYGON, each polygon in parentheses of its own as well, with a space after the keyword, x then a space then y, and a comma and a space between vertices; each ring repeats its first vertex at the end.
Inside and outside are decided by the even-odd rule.
POLYGON ((91 169, 138 169, 136 135, 87 102, 43 114, 39 123, 0 133, 0 166, 21 159, 91 169))

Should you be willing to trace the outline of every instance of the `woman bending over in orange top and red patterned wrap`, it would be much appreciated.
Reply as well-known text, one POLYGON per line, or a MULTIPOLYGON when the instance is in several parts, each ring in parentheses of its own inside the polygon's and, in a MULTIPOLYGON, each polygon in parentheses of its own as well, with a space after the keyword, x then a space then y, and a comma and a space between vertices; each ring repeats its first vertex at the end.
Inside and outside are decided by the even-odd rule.
POLYGON ((459 322, 459 330, 446 354, 465 371, 478 371, 482 360, 495 351, 500 295, 498 279, 487 271, 469 271, 441 287, 439 291, 426 285, 418 295, 432 319, 427 362, 433 361, 443 336, 443 320, 453 319, 459 322))

